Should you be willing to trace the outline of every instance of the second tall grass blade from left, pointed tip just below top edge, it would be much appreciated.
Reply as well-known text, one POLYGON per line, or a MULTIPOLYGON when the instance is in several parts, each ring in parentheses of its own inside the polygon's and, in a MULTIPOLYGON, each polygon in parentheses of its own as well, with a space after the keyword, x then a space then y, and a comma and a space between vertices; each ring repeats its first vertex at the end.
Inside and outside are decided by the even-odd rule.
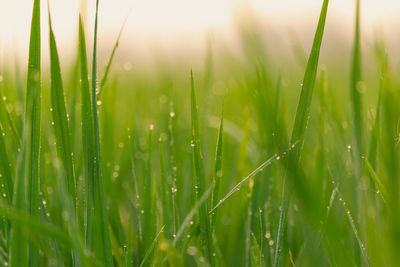
POLYGON ((64 89, 61 79, 60 60, 58 57, 56 41, 51 25, 49 11, 50 28, 50 69, 51 69, 51 106, 53 113, 53 122, 56 135, 56 146, 58 155, 61 157, 65 169, 67 191, 72 195, 73 201, 75 195, 75 177, 72 162, 72 148, 70 140, 70 131, 68 127, 68 117, 65 108, 64 89))

